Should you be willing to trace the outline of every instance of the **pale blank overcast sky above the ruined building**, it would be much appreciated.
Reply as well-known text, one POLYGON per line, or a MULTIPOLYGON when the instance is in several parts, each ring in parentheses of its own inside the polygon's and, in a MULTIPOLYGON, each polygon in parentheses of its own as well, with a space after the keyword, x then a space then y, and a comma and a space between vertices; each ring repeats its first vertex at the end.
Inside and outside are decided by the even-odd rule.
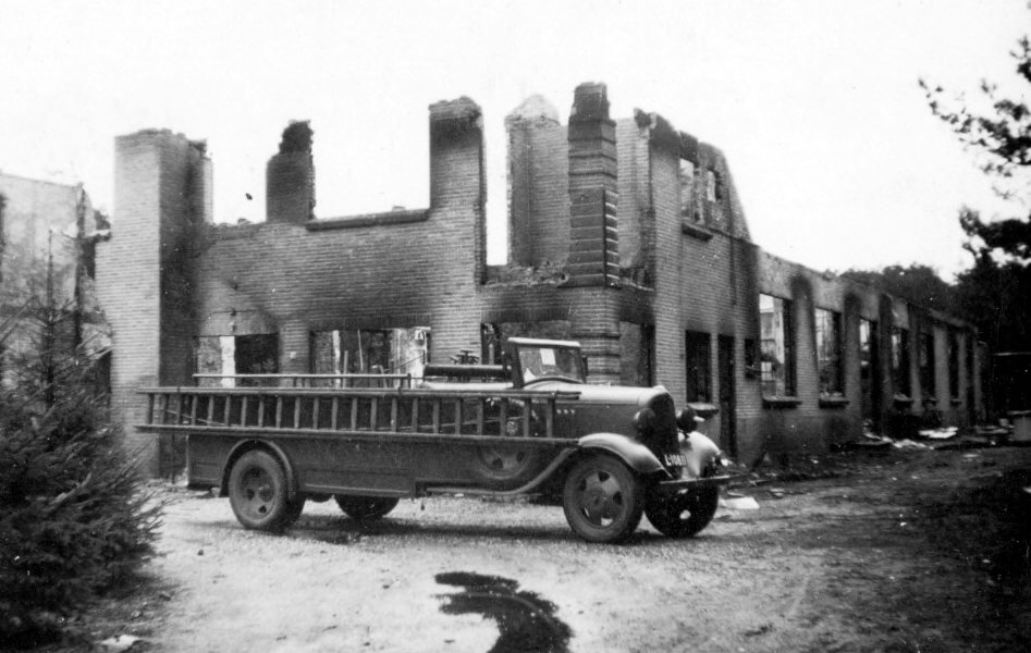
POLYGON ((207 139, 216 219, 257 221, 266 162, 303 119, 318 217, 418 208, 427 107, 465 95, 483 108, 501 262, 505 114, 540 94, 565 122, 576 85, 600 81, 613 118, 655 111, 724 151, 764 249, 948 279, 969 264, 961 205, 1027 208, 993 199, 917 81, 1012 81, 1028 32, 1023 0, 2 0, 0 170, 84 182, 113 211, 114 136, 167 127, 207 139))

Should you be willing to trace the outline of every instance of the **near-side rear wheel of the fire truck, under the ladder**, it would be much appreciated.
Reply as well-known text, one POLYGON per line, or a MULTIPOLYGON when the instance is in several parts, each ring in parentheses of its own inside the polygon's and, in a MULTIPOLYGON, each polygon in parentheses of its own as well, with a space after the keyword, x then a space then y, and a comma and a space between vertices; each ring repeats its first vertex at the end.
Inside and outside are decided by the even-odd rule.
POLYGON ((279 533, 297 518, 296 506, 289 500, 283 466, 261 449, 249 451, 233 464, 229 502, 247 529, 279 533))

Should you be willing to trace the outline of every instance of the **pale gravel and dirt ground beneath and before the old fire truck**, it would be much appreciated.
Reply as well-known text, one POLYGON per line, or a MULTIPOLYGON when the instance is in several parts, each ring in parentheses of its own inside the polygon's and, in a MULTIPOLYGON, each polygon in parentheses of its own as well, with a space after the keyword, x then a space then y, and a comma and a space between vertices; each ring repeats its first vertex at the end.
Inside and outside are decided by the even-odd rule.
POLYGON ((560 508, 471 498, 405 501, 372 527, 309 503, 272 537, 179 491, 157 586, 102 634, 162 652, 1029 650, 1014 528, 1031 449, 832 469, 741 488, 759 509, 695 539, 643 521, 619 546, 576 540, 560 508))

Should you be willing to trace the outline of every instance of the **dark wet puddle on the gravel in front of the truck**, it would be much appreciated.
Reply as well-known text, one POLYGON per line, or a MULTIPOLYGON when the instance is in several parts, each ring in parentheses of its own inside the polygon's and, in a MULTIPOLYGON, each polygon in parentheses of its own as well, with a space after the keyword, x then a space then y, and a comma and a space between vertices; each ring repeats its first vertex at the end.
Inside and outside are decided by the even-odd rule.
POLYGON ((462 588, 456 594, 439 595, 441 612, 479 614, 498 624, 498 641, 488 653, 568 653, 573 631, 555 616, 555 604, 533 592, 520 592, 515 580, 471 571, 449 571, 434 578, 440 584, 462 588))

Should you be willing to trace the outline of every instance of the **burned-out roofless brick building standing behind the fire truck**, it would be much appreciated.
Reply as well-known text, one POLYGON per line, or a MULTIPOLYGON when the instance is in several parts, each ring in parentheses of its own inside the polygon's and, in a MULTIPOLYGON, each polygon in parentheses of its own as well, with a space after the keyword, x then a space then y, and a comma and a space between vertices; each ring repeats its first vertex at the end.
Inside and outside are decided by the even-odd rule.
POLYGON ((213 222, 202 144, 119 137, 98 287, 126 421, 138 386, 197 372, 418 375, 514 334, 579 341, 592 382, 665 385, 742 463, 978 418, 968 324, 762 251, 720 150, 654 113, 613 120, 601 84, 568 124, 539 98, 506 119, 508 263, 489 266, 481 121, 432 104, 429 206, 343 218, 315 215, 292 125, 266 222, 237 225, 213 222))

